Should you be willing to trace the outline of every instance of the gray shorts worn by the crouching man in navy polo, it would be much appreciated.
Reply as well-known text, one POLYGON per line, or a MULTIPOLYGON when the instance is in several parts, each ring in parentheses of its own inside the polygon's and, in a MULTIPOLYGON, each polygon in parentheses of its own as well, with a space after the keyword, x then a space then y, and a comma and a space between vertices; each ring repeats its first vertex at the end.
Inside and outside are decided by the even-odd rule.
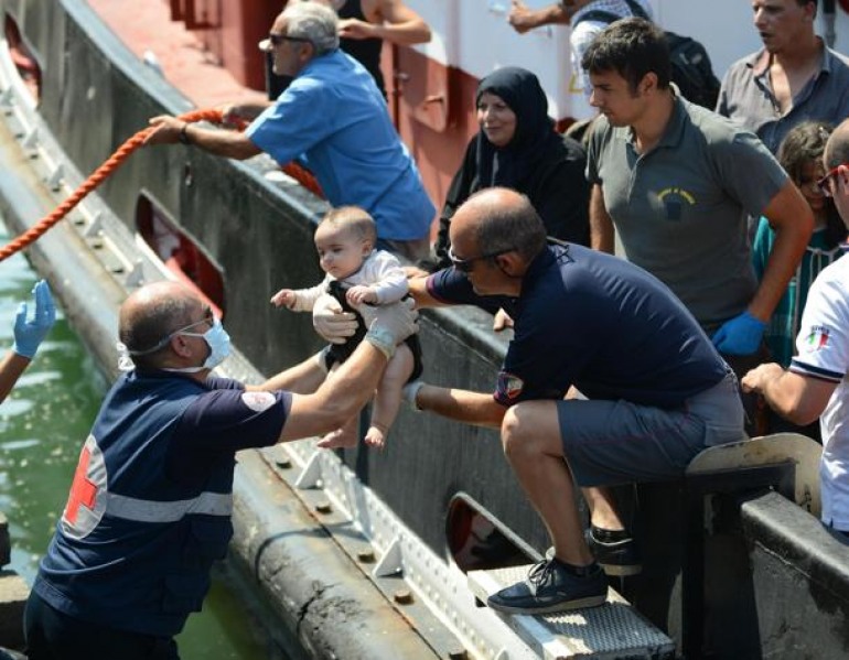
POLYGON ((563 455, 580 486, 677 478, 703 448, 743 440, 737 377, 675 409, 628 401, 558 401, 563 455))

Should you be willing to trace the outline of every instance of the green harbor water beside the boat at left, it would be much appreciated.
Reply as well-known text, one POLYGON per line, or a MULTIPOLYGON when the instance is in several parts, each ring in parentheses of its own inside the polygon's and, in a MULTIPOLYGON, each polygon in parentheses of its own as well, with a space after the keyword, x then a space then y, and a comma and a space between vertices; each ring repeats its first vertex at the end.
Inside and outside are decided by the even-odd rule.
MULTIPOLYGON (((0 224, 0 239, 9 236, 0 224)), ((0 262, 0 354, 11 347, 18 303, 37 274, 17 255, 0 262)), ((67 498, 82 442, 108 383, 62 312, 35 359, 0 404, 0 511, 9 519, 11 569, 32 584, 67 498)), ((216 576, 204 610, 178 637, 184 660, 258 660, 269 651, 216 576)))

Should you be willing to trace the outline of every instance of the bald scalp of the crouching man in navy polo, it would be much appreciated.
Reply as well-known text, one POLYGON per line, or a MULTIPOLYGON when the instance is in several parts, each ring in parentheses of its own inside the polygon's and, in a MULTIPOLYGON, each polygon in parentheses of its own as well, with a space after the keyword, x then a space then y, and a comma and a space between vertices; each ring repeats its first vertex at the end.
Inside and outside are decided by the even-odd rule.
POLYGON ((546 245, 546 228, 528 198, 509 188, 479 191, 458 208, 451 232, 470 232, 482 253, 516 251, 529 263, 546 245))

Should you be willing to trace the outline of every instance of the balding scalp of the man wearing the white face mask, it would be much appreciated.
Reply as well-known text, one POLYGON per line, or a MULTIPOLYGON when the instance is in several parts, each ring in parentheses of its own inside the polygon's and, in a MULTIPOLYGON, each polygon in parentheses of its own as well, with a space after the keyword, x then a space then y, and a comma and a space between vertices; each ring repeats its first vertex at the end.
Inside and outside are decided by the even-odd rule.
MULTIPOLYGON (((135 291, 121 305, 118 336, 130 354, 144 353, 160 344, 174 331, 196 321, 203 301, 178 282, 153 282, 135 291)), ((133 356, 137 366, 155 366, 160 350, 133 356)))

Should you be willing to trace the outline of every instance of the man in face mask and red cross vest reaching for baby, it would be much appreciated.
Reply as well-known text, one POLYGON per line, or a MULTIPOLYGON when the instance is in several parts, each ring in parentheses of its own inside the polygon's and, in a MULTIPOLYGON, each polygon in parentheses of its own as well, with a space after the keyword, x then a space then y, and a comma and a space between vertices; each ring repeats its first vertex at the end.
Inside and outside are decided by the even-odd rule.
POLYGON ((229 337, 192 290, 158 282, 121 305, 121 376, 100 408, 25 614, 30 660, 179 658, 233 535, 235 453, 337 429, 416 332, 383 306, 337 377, 313 394, 286 372, 259 387, 211 376, 229 337))

